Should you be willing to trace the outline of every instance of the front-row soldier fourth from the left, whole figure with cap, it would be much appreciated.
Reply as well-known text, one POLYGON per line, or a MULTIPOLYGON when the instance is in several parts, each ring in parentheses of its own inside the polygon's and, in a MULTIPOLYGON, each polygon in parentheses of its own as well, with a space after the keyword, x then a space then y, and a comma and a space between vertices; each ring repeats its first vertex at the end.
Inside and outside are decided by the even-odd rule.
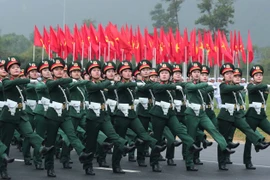
MULTIPOLYGON (((115 130, 121 136, 125 137, 127 129, 133 130, 138 138, 144 141, 146 145, 150 145, 152 151, 160 153, 164 151, 166 146, 158 146, 157 140, 152 138, 143 127, 141 121, 138 119, 136 112, 134 111, 134 94, 132 89, 138 86, 144 86, 142 82, 131 82, 132 65, 128 61, 123 61, 117 68, 118 74, 121 76, 121 81, 116 83, 118 107, 115 111, 115 130)), ((120 161, 122 159, 121 153, 114 147, 113 151, 113 170, 115 173, 125 173, 121 166, 120 161)))

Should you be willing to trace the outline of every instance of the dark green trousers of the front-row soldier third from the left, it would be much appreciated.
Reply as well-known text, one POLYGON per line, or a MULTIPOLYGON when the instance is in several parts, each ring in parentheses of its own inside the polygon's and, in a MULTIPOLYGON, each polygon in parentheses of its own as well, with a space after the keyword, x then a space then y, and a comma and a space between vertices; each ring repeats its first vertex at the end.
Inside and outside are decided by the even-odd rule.
MULTIPOLYGON (((105 119, 110 119, 105 118, 105 119)), ((102 131, 111 142, 113 142, 114 147, 118 147, 119 152, 121 152, 121 156, 123 154, 123 149, 125 144, 127 144, 127 141, 124 138, 121 138, 115 131, 112 123, 110 120, 106 121, 93 121, 87 119, 86 121, 86 152, 96 152, 96 144, 97 144, 97 138, 99 131, 102 131)), ((92 166, 92 160, 85 162, 83 164, 83 168, 89 168, 92 166)))

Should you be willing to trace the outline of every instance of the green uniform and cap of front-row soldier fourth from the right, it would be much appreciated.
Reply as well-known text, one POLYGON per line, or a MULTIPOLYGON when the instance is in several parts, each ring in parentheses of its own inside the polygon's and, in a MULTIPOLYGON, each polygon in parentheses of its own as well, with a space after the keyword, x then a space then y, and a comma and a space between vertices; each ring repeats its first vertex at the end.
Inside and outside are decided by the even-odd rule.
MULTIPOLYGON (((172 73, 172 67, 168 63, 162 63, 157 68, 158 73, 161 71, 168 71, 172 73)), ((187 149, 194 148, 194 140, 187 134, 186 127, 178 121, 176 112, 173 108, 173 97, 171 90, 181 89, 180 86, 169 84, 168 82, 154 83, 152 85, 153 93, 155 96, 155 105, 150 110, 154 137, 161 142, 162 133, 164 127, 167 126, 174 136, 178 136, 184 144, 187 145, 187 149)), ((160 172, 161 169, 158 163, 159 154, 151 152, 150 162, 154 172, 160 172)), ((188 164, 186 164, 189 166, 188 164)))

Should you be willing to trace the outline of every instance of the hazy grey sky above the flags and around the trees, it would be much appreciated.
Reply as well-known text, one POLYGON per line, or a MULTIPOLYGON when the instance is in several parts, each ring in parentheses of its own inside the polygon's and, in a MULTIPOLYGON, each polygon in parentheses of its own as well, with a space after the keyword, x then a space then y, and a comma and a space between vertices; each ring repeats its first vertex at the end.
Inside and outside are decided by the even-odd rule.
MULTIPOLYGON (((109 21, 119 26, 132 25, 152 30, 150 11, 161 0, 0 0, 0 34, 16 33, 29 37, 34 25, 39 29, 64 23, 73 27, 83 19, 92 18, 97 24, 109 21), (64 13, 65 12, 65 13, 64 13), (65 15, 64 15, 65 14, 65 15), (65 18, 64 18, 65 17, 65 18)), ((180 30, 195 28, 200 17, 200 0, 185 0, 179 12, 180 30)), ((229 30, 239 30, 246 42, 248 30, 254 45, 270 46, 269 0, 236 0, 235 24, 229 30)))

